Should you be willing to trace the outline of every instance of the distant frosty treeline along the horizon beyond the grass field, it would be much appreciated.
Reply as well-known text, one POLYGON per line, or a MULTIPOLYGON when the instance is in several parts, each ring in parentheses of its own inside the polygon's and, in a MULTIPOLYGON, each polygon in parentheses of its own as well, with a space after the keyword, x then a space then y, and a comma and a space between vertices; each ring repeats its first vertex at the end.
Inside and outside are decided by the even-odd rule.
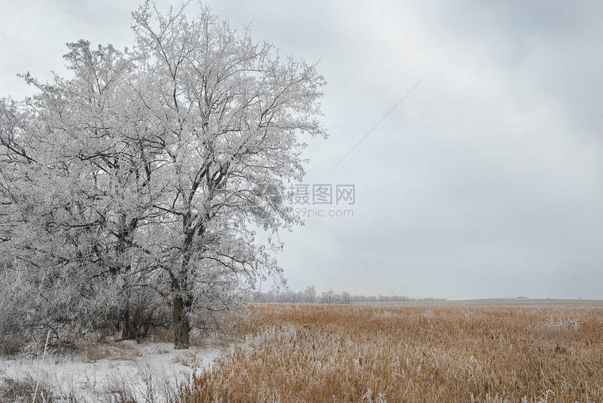
POLYGON ((400 301, 428 301, 428 300, 446 300, 446 298, 411 298, 407 296, 353 296, 351 293, 343 291, 336 293, 332 289, 317 293, 313 286, 307 287, 304 291, 292 290, 269 290, 254 291, 248 297, 250 302, 257 303, 325 303, 325 304, 343 304, 350 305, 360 302, 400 302, 400 301))

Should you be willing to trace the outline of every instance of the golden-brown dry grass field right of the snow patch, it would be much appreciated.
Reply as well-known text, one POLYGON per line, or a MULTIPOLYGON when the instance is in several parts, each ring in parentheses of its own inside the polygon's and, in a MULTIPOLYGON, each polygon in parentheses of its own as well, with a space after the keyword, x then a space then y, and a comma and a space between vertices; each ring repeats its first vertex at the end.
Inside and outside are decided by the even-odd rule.
POLYGON ((603 310, 255 305, 184 402, 603 402, 603 310))

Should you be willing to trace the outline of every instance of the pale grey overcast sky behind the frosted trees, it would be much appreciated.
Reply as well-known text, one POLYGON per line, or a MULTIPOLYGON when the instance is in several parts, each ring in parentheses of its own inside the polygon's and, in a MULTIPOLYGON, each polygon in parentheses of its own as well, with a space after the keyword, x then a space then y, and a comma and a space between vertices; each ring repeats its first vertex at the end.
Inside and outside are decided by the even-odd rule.
MULTIPOLYGON (((355 185, 310 206, 353 217, 281 236, 292 289, 603 298, 603 2, 489 3, 204 2, 328 82, 304 183, 355 185)), ((2 1, 0 96, 64 74, 65 42, 131 46, 138 4, 2 1)))

